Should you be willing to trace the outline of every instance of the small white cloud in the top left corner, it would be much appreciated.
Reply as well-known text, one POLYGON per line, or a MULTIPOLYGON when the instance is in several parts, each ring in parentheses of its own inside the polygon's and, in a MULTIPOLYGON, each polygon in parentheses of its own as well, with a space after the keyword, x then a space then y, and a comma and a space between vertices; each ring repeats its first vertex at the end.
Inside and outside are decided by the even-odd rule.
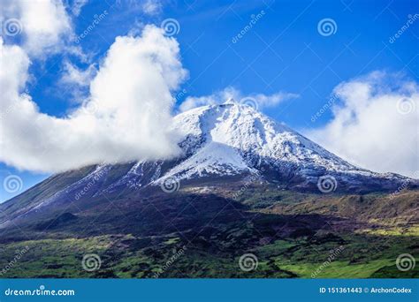
POLYGON ((61 1, 4 0, 0 19, 19 19, 23 48, 34 57, 61 50, 72 34, 71 19, 61 1))

